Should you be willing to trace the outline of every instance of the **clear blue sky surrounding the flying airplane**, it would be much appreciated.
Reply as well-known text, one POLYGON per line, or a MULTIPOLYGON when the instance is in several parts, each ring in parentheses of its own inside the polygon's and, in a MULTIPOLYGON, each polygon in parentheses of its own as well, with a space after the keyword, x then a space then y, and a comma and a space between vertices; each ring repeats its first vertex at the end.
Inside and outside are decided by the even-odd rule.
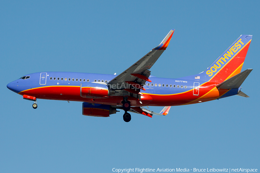
MULTIPOLYGON (((2 1, 0 172, 259 168, 259 1, 2 1), (6 85, 34 72, 120 74, 175 29, 157 77, 204 71, 240 35, 250 96, 175 106, 167 116, 81 114, 81 102, 22 99, 6 85)), ((149 107, 160 112, 162 107, 149 107)))

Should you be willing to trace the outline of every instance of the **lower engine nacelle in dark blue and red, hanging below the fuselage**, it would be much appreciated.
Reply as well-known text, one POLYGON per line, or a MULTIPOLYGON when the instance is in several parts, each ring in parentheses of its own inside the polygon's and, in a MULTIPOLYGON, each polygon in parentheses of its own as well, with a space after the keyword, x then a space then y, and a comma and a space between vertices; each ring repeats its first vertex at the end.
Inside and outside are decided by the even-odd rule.
POLYGON ((116 108, 112 108, 110 105, 94 104, 83 102, 82 103, 82 115, 86 116, 99 116, 108 117, 110 114, 115 114, 116 108))

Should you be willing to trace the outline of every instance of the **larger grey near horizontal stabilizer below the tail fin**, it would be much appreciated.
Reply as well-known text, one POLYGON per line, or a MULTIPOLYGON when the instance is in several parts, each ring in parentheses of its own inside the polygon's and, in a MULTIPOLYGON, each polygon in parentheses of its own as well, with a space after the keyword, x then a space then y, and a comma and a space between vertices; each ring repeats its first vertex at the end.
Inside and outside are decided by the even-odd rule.
POLYGON ((246 69, 244 72, 241 72, 233 76, 232 78, 225 80, 224 82, 218 84, 216 87, 222 89, 239 88, 252 70, 253 69, 246 69))

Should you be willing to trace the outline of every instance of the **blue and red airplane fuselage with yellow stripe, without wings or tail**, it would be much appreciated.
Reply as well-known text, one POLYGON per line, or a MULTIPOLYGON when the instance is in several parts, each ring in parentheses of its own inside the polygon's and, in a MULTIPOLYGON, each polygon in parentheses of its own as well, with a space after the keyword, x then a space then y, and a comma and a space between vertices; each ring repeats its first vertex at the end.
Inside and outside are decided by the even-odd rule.
MULTIPOLYGON (((18 79, 8 88, 20 95, 29 95, 38 99, 83 101, 97 104, 122 105, 122 96, 82 97, 81 84, 99 83, 106 85, 116 75, 77 72, 39 72, 32 73, 27 79, 18 79)), ((26 78, 25 76, 25 78, 26 78)), ((131 106, 177 106, 210 101, 236 95, 238 89, 218 89, 216 82, 200 79, 157 78, 150 77, 141 90, 141 100, 129 97, 131 106), (199 86, 199 87, 198 87, 199 86), (229 92, 228 92, 229 91, 229 92), (227 94, 227 92, 229 94, 227 94)), ((125 83, 127 85, 127 83, 125 83)), ((130 93, 131 94, 131 93, 130 93)))

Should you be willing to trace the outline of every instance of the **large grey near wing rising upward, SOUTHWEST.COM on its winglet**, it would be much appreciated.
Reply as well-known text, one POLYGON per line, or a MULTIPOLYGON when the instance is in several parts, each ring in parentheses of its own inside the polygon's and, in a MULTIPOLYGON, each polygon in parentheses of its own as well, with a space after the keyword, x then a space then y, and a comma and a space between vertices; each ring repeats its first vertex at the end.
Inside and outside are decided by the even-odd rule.
POLYGON ((174 30, 170 30, 159 46, 153 48, 153 50, 144 55, 144 57, 142 57, 139 61, 109 81, 107 85, 112 89, 127 89, 130 93, 138 94, 140 89, 144 89, 142 86, 146 81, 151 82, 151 80, 148 79, 151 74, 149 69, 167 48, 173 32, 174 30), (132 89, 130 89, 129 86, 133 86, 132 89))

